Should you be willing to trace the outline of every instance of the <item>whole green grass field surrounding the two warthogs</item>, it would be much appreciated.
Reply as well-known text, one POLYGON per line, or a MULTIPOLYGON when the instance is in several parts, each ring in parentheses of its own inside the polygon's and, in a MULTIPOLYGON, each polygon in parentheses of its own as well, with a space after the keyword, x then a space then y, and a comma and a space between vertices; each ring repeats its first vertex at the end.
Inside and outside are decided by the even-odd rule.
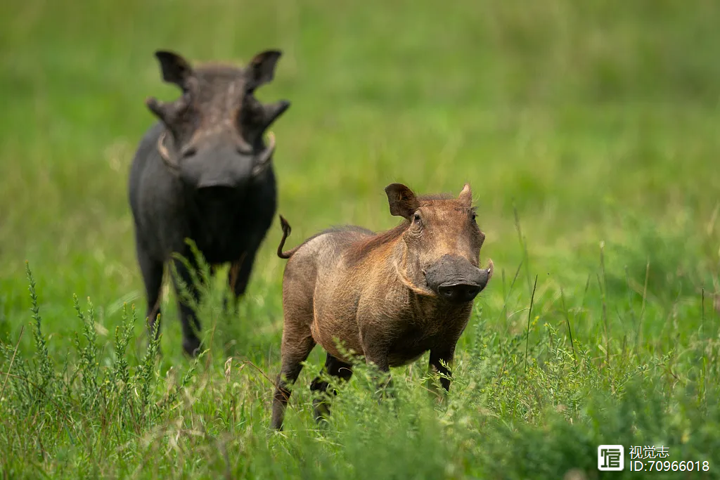
POLYGON ((641 478, 598 471, 622 444, 626 465, 669 449, 652 478, 720 478, 719 22, 711 0, 6 4, 0 477, 641 478), (278 222, 238 312, 209 289, 210 351, 181 353, 171 289, 162 356, 148 345, 126 192, 143 100, 176 96, 153 51, 269 47, 258 96, 292 101, 273 129, 289 245, 394 226, 387 184, 472 184, 495 276, 442 402, 427 355, 381 404, 359 366, 317 427, 316 348, 269 432, 278 222))

